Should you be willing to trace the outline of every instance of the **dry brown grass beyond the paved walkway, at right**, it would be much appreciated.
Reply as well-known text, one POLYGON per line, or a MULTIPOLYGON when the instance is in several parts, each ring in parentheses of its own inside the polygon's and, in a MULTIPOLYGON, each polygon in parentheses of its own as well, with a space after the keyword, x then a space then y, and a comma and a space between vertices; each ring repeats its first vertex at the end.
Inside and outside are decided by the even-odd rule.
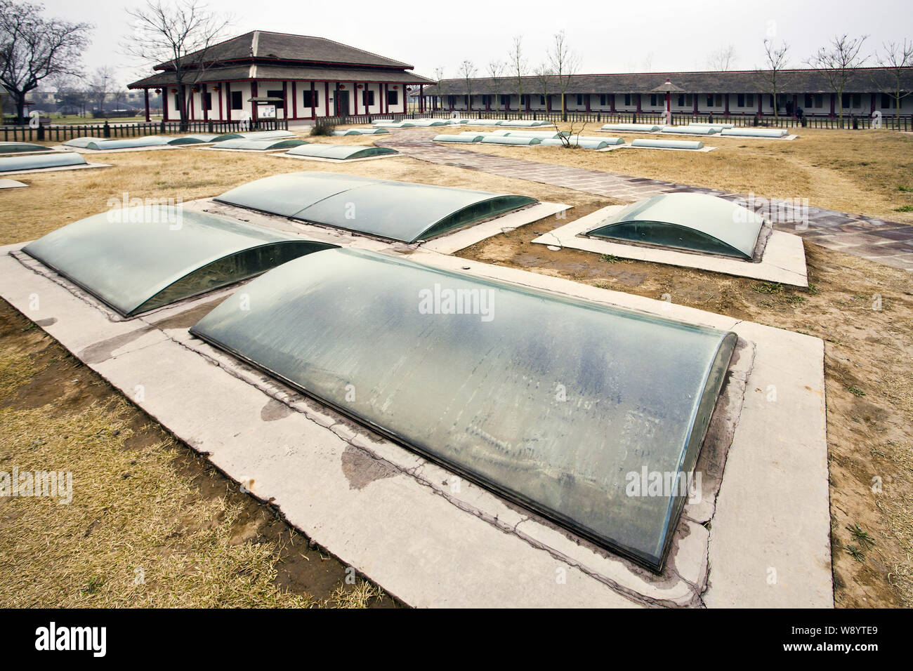
MULTIPOLYGON (((583 135, 596 132, 592 123, 583 135)), ((568 124, 559 124, 567 130, 568 124)), ((576 128, 576 127, 575 127, 576 128)), ((913 136, 895 131, 828 131, 798 129, 799 139, 682 137, 718 147, 715 152, 651 152, 622 149, 588 152, 561 147, 510 147, 461 144, 460 149, 539 163, 572 165, 589 170, 704 186, 765 198, 808 198, 813 207, 878 216, 913 223, 913 213, 897 212, 913 204, 913 136)), ((608 135, 610 133, 606 133, 608 135)), ((624 142, 651 137, 618 133, 624 142)), ((656 137, 656 136, 652 136, 656 137)))

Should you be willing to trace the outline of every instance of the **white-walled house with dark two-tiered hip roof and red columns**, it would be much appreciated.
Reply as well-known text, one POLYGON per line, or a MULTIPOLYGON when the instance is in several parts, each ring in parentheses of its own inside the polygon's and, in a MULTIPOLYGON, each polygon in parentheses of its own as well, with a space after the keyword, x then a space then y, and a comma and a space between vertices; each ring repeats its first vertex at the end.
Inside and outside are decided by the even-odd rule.
MULTIPOLYGON (((413 66, 323 37, 254 30, 184 59, 184 95, 193 120, 242 121, 274 117, 314 120, 406 110, 406 87, 433 84, 413 66)), ((180 116, 173 61, 134 81, 163 94, 163 118, 180 116)))

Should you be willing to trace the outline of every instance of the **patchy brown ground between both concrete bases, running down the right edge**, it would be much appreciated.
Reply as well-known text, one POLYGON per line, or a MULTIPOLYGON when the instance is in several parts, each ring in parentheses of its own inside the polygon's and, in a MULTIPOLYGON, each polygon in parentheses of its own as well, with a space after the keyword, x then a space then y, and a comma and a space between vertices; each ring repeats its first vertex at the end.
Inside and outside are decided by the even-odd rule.
MULTIPOLYGON (((569 219, 585 214, 581 206, 569 219)), ((913 605, 910 274, 806 243, 811 286, 787 288, 531 243, 554 227, 551 220, 522 226, 459 256, 652 299, 668 294, 682 305, 824 339, 835 603, 913 605)))

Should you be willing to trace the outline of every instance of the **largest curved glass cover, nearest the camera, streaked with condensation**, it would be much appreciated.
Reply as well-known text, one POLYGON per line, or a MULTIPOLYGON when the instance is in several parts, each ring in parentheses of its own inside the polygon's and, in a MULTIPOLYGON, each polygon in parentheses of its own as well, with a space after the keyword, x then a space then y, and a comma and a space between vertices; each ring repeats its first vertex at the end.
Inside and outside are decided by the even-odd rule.
POLYGON ((687 488, 641 478, 693 471, 734 333, 351 248, 245 294, 191 332, 661 570, 687 488))

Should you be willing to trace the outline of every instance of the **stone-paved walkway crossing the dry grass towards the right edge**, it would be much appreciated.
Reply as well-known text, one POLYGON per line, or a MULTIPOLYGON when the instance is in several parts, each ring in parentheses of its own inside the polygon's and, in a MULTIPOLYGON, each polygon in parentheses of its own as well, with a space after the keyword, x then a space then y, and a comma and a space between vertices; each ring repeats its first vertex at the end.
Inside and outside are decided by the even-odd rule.
MULTIPOLYGON (((744 194, 732 194, 699 186, 467 151, 431 142, 435 134, 436 131, 427 129, 400 130, 394 131, 393 137, 383 138, 375 143, 378 146, 394 147, 399 152, 428 163, 551 184, 627 202, 656 194, 682 192, 718 195, 729 200, 740 200, 742 204, 745 204, 748 198, 744 194)), ((763 207, 763 204, 756 204, 756 209, 758 207, 763 207)), ((805 227, 803 223, 797 224, 796 220, 803 220, 804 217, 793 213, 792 204, 788 202, 771 203, 770 211, 764 214, 778 230, 803 236, 816 245, 868 258, 888 266, 913 270, 913 225, 809 207, 808 225, 805 227)))

